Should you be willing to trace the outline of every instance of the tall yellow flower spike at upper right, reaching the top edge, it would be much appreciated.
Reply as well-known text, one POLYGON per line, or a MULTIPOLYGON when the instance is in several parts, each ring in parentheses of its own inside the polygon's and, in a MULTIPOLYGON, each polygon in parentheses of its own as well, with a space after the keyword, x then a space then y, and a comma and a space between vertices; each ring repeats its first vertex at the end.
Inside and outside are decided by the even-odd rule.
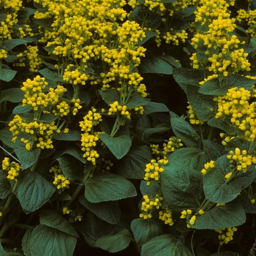
POLYGON ((224 0, 202 0, 195 11, 195 22, 208 27, 208 31, 197 30, 192 38, 194 48, 200 48, 200 53, 193 53, 190 57, 192 66, 194 69, 203 67, 208 70, 207 77, 200 85, 212 78, 219 78, 220 86, 225 86, 225 78, 229 74, 250 70, 246 59, 248 53, 244 48, 238 49, 245 42, 233 34, 236 19, 230 18, 230 11, 227 10, 230 4, 224 0), (200 57, 202 49, 205 49, 207 60, 200 57))

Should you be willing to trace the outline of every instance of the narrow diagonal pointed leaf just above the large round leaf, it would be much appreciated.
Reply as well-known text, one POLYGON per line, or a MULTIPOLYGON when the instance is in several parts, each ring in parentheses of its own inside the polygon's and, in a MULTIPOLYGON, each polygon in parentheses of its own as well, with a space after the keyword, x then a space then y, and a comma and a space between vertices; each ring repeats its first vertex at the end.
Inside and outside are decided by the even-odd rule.
POLYGON ((199 145, 199 137, 195 129, 182 118, 170 118, 170 124, 176 137, 182 140, 186 146, 190 148, 197 148, 199 145))

